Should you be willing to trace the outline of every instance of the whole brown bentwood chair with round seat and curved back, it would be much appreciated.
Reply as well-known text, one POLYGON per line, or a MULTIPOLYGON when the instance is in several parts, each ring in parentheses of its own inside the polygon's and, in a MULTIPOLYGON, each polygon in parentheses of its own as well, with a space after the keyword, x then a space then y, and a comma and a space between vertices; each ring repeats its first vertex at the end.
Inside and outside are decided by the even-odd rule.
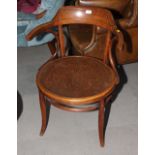
POLYGON ((113 38, 121 35, 121 32, 117 29, 111 13, 95 7, 62 7, 51 22, 36 27, 27 39, 31 40, 42 32, 55 35, 57 42, 54 43, 53 50, 60 50, 61 55, 42 65, 36 76, 42 113, 40 135, 43 135, 46 129, 46 106, 50 100, 51 105, 67 111, 99 109, 98 132, 100 145, 103 146, 105 104, 119 83, 111 47, 113 38), (85 56, 84 53, 81 56, 65 56, 63 26, 69 24, 93 24, 108 32, 103 61, 85 56), (99 102, 98 106, 94 105, 96 102, 99 102))

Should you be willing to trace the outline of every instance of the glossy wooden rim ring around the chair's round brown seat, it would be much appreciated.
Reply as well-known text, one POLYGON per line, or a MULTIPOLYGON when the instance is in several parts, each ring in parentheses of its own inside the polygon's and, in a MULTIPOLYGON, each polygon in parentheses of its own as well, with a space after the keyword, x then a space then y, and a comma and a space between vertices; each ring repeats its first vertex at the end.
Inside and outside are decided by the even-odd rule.
POLYGON ((66 57, 61 57, 61 58, 51 60, 51 61, 56 62, 56 61, 59 61, 60 59, 66 59, 68 57, 87 57, 87 58, 92 58, 92 59, 96 60, 97 62, 100 62, 102 65, 104 65, 105 67, 107 67, 109 70, 112 71, 113 78, 114 78, 113 82, 106 90, 104 90, 100 93, 97 93, 95 95, 91 95, 91 96, 76 98, 76 97, 65 97, 65 96, 57 95, 57 94, 53 93, 52 91, 49 91, 48 89, 46 89, 39 81, 40 71, 48 65, 48 62, 47 62, 41 66, 41 68, 39 69, 37 76, 36 76, 37 87, 38 87, 39 91, 41 91, 45 96, 47 96, 48 98, 55 100, 57 102, 63 103, 65 105, 74 106, 74 105, 90 104, 91 102, 97 102, 101 98, 108 96, 113 91, 114 87, 116 86, 116 76, 115 76, 114 71, 108 65, 104 64, 101 60, 90 57, 90 56, 66 56, 66 57))

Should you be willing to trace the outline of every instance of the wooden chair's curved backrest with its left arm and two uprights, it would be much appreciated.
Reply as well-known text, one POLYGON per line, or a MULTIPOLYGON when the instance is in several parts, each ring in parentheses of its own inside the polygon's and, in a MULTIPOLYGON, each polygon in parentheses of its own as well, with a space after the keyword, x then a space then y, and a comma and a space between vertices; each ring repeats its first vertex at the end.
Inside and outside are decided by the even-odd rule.
POLYGON ((32 39, 34 36, 41 32, 51 32, 52 27, 58 27, 56 35, 61 56, 65 55, 64 34, 62 30, 63 25, 69 24, 91 24, 99 26, 108 31, 106 39, 106 52, 103 54, 103 60, 108 57, 108 51, 111 45, 111 33, 117 31, 117 26, 110 11, 98 7, 85 7, 85 6, 65 6, 59 9, 51 22, 42 24, 36 27, 27 35, 27 40, 32 39))

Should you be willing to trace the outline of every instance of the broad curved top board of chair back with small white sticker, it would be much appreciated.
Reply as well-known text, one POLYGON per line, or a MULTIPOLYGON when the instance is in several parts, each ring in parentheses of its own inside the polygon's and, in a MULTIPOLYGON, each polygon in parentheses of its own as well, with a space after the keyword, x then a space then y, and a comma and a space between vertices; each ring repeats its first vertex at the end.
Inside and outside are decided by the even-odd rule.
POLYGON ((55 26, 66 24, 92 24, 110 31, 117 29, 111 12, 98 7, 62 7, 53 18, 52 24, 55 26))

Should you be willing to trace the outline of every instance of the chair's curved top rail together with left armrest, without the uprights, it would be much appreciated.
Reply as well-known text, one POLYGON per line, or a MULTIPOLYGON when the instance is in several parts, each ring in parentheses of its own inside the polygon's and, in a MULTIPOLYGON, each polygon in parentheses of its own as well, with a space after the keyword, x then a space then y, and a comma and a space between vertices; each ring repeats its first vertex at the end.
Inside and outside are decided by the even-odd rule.
POLYGON ((29 34, 26 35, 26 39, 31 40, 34 38, 34 36, 37 36, 42 32, 49 32, 49 30, 56 36, 56 34, 52 32, 51 27, 66 24, 84 24, 85 21, 87 21, 86 24, 93 25, 95 23, 96 26, 100 26, 111 32, 115 32, 117 30, 113 16, 111 15, 110 11, 106 9, 67 6, 62 7, 52 21, 41 24, 34 28, 29 34))

